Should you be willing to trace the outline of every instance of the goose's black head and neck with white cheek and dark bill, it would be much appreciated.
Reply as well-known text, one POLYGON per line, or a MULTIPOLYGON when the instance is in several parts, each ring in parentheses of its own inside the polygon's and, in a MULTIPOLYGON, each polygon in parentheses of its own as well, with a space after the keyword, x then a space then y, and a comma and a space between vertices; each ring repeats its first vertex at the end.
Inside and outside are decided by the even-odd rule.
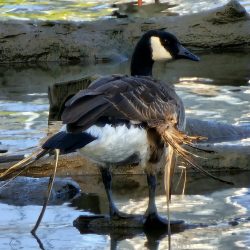
POLYGON ((131 60, 131 75, 152 75, 155 61, 177 59, 200 60, 173 34, 162 30, 150 30, 141 37, 135 46, 131 60))

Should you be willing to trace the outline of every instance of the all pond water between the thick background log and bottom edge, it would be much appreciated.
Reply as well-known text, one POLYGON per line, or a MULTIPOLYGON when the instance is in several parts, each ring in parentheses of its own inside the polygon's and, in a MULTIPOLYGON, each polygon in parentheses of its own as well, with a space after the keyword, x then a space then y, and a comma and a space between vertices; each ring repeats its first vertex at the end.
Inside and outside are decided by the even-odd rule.
MULTIPOLYGON (((250 124, 250 53, 236 51, 200 54, 201 61, 157 64, 154 75, 175 83, 190 117, 233 124, 250 124)), ((55 82, 86 74, 128 73, 122 64, 1 65, 0 141, 10 154, 31 152, 47 133, 47 88, 55 82)), ((249 145, 245 139, 242 144, 249 145)), ((118 206, 143 213, 147 205, 145 177, 138 185, 115 186, 118 206)), ((182 219, 193 229, 172 235, 173 249, 250 248, 250 173, 231 175, 228 187, 199 176, 189 176, 186 195, 178 191, 171 204, 171 218, 182 219), (197 227, 199 223, 208 227, 197 227)), ((82 214, 107 213, 103 187, 95 177, 75 176, 84 194, 60 206, 49 206, 38 235, 45 249, 110 249, 110 235, 80 234, 73 221, 82 214)), ((166 202, 159 188, 157 205, 165 216, 166 202)), ((6 204, 0 197, 0 249, 38 249, 29 233, 41 207, 6 204)), ((111 244, 112 242, 112 244, 111 244)), ((167 237, 147 238, 143 233, 118 242, 117 249, 167 249, 167 237)))

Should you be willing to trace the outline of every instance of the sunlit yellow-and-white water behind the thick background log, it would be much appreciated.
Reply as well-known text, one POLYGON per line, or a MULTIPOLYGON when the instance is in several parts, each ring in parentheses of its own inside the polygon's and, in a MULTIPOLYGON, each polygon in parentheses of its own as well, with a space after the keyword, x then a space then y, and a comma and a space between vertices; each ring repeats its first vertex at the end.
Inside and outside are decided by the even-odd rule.
MULTIPOLYGON (((135 1, 134 1, 135 2, 135 1)), ((228 0, 218 1, 196 1, 196 0, 162 0, 162 6, 151 6, 153 0, 145 0, 141 8, 137 8, 133 1, 111 1, 111 0, 2 0, 0 1, 0 19, 21 20, 73 20, 91 21, 112 17, 112 12, 119 10, 121 13, 136 16, 159 14, 162 15, 184 15, 196 13, 221 6, 228 0), (116 4, 114 6, 114 3, 116 4), (124 3, 127 3, 126 5, 124 3), (165 5, 164 5, 165 4, 165 5), (131 13, 132 11, 132 13, 131 13)), ((249 0, 239 1, 247 11, 250 11, 249 0)))

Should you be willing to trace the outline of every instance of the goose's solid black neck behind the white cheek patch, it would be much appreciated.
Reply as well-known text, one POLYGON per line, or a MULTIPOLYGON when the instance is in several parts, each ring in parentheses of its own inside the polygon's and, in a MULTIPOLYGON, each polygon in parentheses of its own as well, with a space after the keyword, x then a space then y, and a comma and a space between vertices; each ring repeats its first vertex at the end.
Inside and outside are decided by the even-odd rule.
POLYGON ((152 76, 152 51, 149 39, 141 39, 135 47, 131 60, 132 76, 152 76))

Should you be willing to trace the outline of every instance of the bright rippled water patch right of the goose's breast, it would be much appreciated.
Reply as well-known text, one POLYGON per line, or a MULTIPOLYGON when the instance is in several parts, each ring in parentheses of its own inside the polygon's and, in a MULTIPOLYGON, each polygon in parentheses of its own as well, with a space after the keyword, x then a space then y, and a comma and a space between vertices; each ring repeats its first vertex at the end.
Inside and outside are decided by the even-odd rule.
POLYGON ((190 117, 237 125, 249 124, 250 93, 247 87, 221 87, 182 80, 176 88, 190 117))

